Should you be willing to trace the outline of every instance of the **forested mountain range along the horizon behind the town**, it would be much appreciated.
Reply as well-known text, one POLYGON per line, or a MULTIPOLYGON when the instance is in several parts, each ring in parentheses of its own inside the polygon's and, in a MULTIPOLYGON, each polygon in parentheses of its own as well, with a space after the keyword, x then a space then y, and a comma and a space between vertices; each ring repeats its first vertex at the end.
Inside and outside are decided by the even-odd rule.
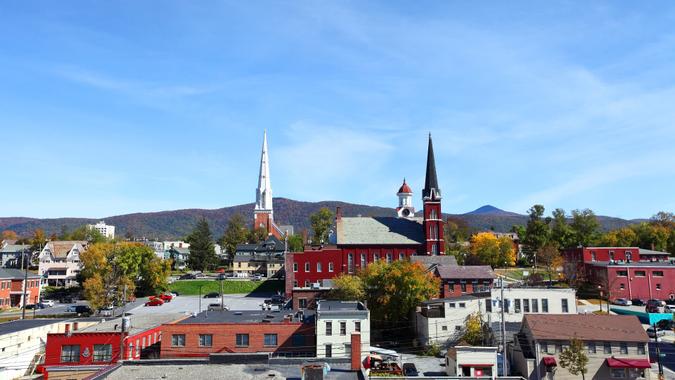
MULTIPOLYGON (((339 201, 302 202, 287 198, 274 198, 274 219, 277 224, 290 224, 296 233, 309 229, 309 215, 322 207, 335 210, 342 208, 344 216, 393 216, 393 208, 368 206, 339 201)), ((105 218, 53 218, 39 219, 26 217, 0 217, 0 231, 12 230, 20 236, 28 236, 36 228, 42 228, 47 233, 60 234, 65 228, 72 231, 83 224, 93 224, 104 220, 115 226, 117 236, 127 233, 135 237, 149 239, 180 239, 190 233, 199 218, 209 221, 214 237, 222 235, 227 222, 235 214, 241 214, 246 219, 252 218, 253 203, 224 207, 219 209, 184 209, 148 213, 134 213, 116 215, 105 218)), ((486 205, 465 214, 444 214, 445 217, 454 217, 464 220, 474 230, 494 230, 507 232, 513 225, 525 225, 527 215, 504 211, 497 207, 486 205)), ((636 223, 640 220, 625 220, 620 218, 598 216, 603 230, 610 230, 636 223)))

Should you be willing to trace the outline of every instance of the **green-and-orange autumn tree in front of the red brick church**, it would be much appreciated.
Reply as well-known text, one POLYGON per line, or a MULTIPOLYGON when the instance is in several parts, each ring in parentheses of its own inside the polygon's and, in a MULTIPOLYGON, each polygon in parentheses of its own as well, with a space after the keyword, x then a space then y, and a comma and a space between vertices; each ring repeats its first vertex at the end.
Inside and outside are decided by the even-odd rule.
POLYGON ((420 302, 437 297, 440 280, 419 263, 397 260, 368 265, 359 273, 372 319, 383 324, 407 320, 420 302))

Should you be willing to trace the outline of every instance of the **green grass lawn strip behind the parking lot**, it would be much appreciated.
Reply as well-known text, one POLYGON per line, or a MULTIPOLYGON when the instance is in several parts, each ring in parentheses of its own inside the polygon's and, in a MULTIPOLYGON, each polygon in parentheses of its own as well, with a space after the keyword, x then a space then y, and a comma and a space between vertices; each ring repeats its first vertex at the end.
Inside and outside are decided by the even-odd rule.
MULTIPOLYGON (((175 281, 169 288, 180 295, 198 295, 199 287, 202 294, 220 293, 220 281, 216 280, 185 280, 175 281)), ((284 282, 281 280, 269 281, 223 281, 224 294, 274 293, 283 291, 284 282)))

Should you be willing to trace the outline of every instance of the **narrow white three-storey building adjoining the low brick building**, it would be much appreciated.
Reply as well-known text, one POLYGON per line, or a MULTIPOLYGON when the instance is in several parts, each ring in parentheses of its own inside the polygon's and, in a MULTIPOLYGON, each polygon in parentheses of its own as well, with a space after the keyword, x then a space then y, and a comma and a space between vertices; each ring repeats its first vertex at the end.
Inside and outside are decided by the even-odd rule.
MULTIPOLYGON (((370 311, 358 301, 319 301, 316 307, 316 356, 350 357, 352 333, 361 334, 361 352, 370 349, 370 311)), ((362 354, 363 355, 363 354, 362 354)), ((362 359, 362 358, 361 358, 362 359)))

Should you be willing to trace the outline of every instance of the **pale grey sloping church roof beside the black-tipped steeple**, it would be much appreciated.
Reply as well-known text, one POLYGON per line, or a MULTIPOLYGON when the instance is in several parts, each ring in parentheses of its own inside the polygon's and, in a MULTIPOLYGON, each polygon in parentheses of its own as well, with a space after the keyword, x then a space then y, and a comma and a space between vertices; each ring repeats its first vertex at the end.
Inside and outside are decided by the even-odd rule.
POLYGON ((424 242, 421 218, 342 217, 337 223, 338 245, 417 245, 424 242))

